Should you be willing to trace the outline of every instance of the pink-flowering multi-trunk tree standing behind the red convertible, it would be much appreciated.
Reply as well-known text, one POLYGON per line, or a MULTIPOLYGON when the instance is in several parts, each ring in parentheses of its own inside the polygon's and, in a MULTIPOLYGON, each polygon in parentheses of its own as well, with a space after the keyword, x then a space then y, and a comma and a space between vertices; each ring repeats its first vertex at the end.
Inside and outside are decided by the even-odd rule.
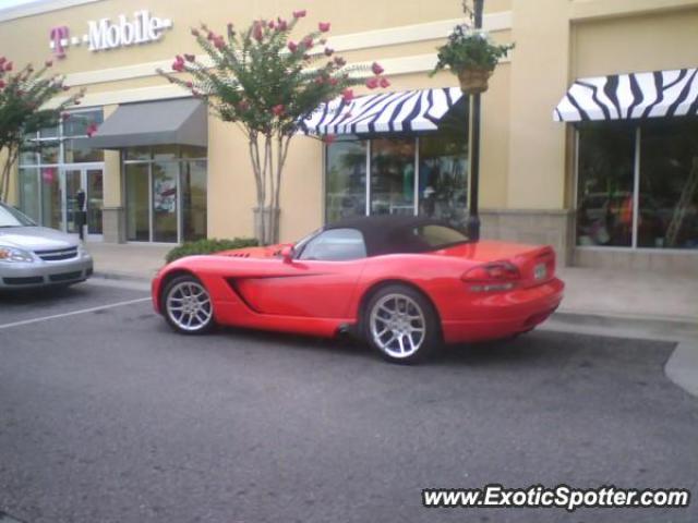
POLYGON ((281 175, 300 123, 332 98, 350 101, 352 86, 388 85, 378 64, 352 66, 335 56, 327 47, 327 22, 292 38, 304 16, 305 11, 296 11, 290 20, 256 20, 241 32, 228 24, 222 35, 206 25, 193 28, 205 54, 178 54, 171 72, 159 71, 244 132, 256 185, 255 235, 262 244, 278 242, 281 175))

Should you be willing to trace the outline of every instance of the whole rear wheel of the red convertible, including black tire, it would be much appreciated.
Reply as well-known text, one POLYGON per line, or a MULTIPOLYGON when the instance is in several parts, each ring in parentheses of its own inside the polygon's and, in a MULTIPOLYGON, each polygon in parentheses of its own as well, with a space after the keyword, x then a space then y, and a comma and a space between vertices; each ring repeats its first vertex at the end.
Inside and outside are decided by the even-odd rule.
POLYGON ((423 362, 442 346, 438 315, 431 302, 409 285, 389 284, 375 292, 362 311, 361 325, 366 342, 390 363, 423 362), (392 307, 396 311, 390 316, 392 307))

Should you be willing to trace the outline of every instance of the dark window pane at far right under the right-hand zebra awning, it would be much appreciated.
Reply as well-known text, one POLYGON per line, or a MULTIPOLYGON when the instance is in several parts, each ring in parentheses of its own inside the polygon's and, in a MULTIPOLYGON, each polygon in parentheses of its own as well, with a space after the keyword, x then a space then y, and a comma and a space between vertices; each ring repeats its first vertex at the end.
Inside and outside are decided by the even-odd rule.
POLYGON ((640 151, 638 246, 698 248, 698 121, 648 122, 640 151))

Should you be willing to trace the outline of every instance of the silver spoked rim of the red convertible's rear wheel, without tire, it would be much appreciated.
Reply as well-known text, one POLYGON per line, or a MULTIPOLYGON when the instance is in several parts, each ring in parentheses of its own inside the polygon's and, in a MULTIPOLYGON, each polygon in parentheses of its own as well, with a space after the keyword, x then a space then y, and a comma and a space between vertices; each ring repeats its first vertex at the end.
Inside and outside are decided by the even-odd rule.
POLYGON ((390 357, 409 357, 424 342, 426 321, 418 303, 405 294, 386 294, 370 317, 373 342, 390 357))

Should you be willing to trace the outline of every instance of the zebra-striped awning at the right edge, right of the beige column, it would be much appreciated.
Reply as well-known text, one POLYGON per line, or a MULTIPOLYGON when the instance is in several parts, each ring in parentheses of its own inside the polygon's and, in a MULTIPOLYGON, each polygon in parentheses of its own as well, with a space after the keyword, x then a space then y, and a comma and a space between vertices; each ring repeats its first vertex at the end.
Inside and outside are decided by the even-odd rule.
POLYGON ((614 74, 576 81, 555 108, 558 122, 698 114, 698 70, 614 74))

